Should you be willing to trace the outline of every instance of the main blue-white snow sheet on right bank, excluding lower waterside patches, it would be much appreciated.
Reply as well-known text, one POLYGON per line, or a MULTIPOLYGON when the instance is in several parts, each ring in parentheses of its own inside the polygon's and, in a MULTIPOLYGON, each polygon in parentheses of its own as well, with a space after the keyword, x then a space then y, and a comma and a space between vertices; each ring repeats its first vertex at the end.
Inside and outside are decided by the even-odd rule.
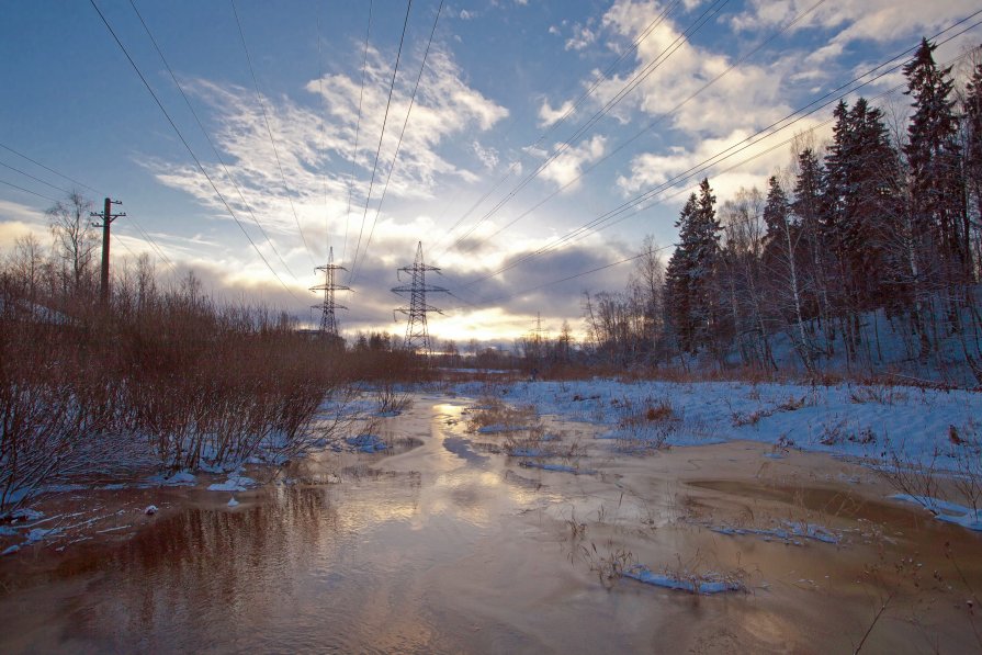
MULTIPOLYGON (((643 417, 646 407, 667 403, 677 425, 656 434, 664 436, 667 445, 747 439, 871 460, 895 452, 904 461, 925 464, 950 445, 950 426, 971 431, 974 417, 982 416, 979 393, 855 384, 594 379, 519 382, 490 391, 462 384, 456 391, 484 391, 513 405, 534 405, 540 414, 599 424, 608 428, 606 437, 610 439, 635 438, 637 434, 622 432, 619 422, 632 413, 643 417)), ((479 431, 504 428, 488 426, 479 431)), ((645 431, 640 434, 644 437, 645 431)))

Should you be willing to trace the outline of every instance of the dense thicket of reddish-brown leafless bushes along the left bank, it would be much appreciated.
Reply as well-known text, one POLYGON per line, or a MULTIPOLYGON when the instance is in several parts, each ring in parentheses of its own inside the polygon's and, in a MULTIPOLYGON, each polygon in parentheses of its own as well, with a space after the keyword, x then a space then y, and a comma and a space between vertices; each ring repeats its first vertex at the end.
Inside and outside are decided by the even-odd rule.
POLYGON ((15 272, 0 269, 0 511, 154 463, 295 458, 334 429, 317 409, 358 375, 337 343, 262 307, 218 306, 193 276, 161 291, 138 275, 100 305, 15 272))

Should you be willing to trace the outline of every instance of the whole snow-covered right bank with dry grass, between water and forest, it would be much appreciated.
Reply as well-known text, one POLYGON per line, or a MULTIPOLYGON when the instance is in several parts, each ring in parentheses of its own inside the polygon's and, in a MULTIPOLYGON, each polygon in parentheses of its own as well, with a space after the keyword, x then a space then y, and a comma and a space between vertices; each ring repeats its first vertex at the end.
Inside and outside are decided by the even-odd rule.
POLYGON ((768 458, 800 449, 853 459, 899 481, 900 490, 912 492, 896 499, 982 530, 982 394, 977 392, 609 379, 472 383, 456 392, 603 426, 598 439, 610 440, 620 453, 750 440, 771 444, 768 458), (947 483, 927 479, 924 485, 935 476, 947 483), (924 494, 946 485, 955 488, 949 498, 924 494), (967 497, 967 488, 975 497, 967 497))

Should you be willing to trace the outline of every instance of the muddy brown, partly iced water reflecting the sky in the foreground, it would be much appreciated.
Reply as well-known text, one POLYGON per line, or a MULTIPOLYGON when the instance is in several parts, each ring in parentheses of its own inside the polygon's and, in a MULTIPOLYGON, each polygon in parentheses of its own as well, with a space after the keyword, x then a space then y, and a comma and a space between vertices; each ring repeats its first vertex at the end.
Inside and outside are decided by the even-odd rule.
POLYGON ((867 632, 862 652, 982 648, 982 539, 869 470, 747 442, 624 455, 546 419, 596 473, 542 471, 466 432, 466 404, 417 395, 384 422, 406 448, 320 454, 236 508, 168 492, 125 539, 0 561, 0 652, 827 653, 867 632), (711 530, 809 522, 838 543, 711 530), (744 590, 605 576, 613 562, 744 590))

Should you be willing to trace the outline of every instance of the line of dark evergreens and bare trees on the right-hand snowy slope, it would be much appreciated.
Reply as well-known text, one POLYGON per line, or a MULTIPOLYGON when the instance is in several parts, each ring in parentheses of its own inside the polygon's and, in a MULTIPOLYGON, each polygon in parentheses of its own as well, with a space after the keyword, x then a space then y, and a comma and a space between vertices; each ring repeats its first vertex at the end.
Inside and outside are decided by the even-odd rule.
POLYGON ((702 180, 667 266, 648 238, 624 292, 585 295, 590 353, 774 371, 780 340, 811 373, 957 361, 982 383, 982 61, 957 88, 935 47, 903 68, 905 125, 842 100, 765 192, 702 180))

